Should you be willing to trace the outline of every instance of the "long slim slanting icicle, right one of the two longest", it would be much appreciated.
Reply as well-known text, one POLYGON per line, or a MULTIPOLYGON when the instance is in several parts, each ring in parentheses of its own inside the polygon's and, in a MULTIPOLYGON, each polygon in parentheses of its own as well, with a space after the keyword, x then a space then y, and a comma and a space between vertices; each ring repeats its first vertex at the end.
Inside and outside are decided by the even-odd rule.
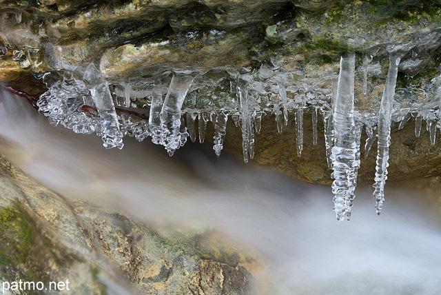
POLYGON ((384 202, 384 184, 387 180, 387 166, 389 166, 389 145, 391 143, 391 116, 393 96, 398 75, 400 57, 389 57, 389 71, 387 72, 386 85, 381 99, 380 112, 378 114, 378 153, 373 197, 376 198, 376 210, 380 215, 384 202))

